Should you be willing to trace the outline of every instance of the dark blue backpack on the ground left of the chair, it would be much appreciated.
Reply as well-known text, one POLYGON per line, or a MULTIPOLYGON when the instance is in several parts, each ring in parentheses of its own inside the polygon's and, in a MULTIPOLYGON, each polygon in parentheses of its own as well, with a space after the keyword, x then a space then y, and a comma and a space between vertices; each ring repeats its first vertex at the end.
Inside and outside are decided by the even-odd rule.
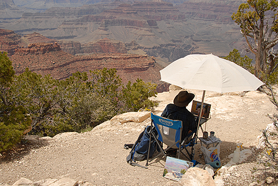
MULTIPOLYGON (((137 138, 137 141, 134 144, 125 144, 124 145, 125 149, 128 149, 132 146, 129 155, 126 157, 126 161, 130 165, 147 168, 145 166, 138 165, 135 162, 143 161, 143 160, 147 159, 149 142, 150 142, 150 134, 149 134, 150 129, 151 129, 150 125, 145 127, 145 130, 143 132, 141 132, 141 134, 137 138)), ((155 130, 154 132, 157 134, 156 129, 153 128, 153 130, 155 130)), ((159 148, 157 148, 157 143, 156 143, 154 137, 152 136, 149 156, 152 157, 153 154, 156 152, 156 150, 158 150, 160 152, 159 148)))

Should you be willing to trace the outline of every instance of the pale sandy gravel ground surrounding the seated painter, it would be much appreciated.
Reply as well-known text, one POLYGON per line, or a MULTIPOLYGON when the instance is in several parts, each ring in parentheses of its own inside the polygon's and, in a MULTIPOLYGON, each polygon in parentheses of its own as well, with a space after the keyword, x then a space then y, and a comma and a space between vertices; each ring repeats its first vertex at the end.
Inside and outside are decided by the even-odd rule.
MULTIPOLYGON (((203 91, 189 90, 201 101, 203 91)), ((163 92, 154 100, 160 102, 153 110, 160 114, 168 103, 172 103, 178 91, 163 92)), ((277 113, 268 97, 259 91, 233 94, 206 92, 205 103, 211 104, 211 119, 203 128, 215 131, 222 141, 220 147, 221 163, 230 159, 238 142, 244 149, 257 145, 257 136, 271 123, 267 114, 277 113)), ((188 106, 191 110, 191 105, 188 106)), ((162 177, 166 158, 155 160, 148 169, 133 167, 126 163, 129 150, 124 144, 134 143, 137 136, 150 124, 150 118, 142 123, 128 122, 111 126, 109 122, 85 133, 63 133, 52 140, 29 140, 17 151, 3 153, 0 158, 0 182, 13 184, 21 177, 32 181, 47 178, 70 177, 88 181, 95 185, 178 185, 178 182, 162 177)), ((199 136, 202 136, 199 133, 199 136)), ((184 158, 184 157, 182 157, 184 158)), ((204 163, 200 145, 197 145, 195 159, 204 163)), ((140 162, 145 165, 146 161, 140 162)), ((253 165, 241 168, 249 175, 253 165), (246 170, 245 170, 246 169, 246 170)), ((240 179, 238 174, 235 174, 240 179)), ((248 185, 225 179, 226 185, 248 185)))

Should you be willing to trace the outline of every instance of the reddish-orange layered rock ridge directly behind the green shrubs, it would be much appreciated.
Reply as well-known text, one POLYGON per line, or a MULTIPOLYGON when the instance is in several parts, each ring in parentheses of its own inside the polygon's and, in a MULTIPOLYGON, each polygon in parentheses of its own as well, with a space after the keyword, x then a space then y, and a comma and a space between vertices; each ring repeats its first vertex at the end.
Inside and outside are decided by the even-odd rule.
POLYGON ((61 51, 57 43, 29 44, 28 48, 18 49, 10 59, 13 61, 16 74, 29 68, 41 75, 51 74, 56 79, 65 79, 76 71, 89 72, 104 67, 115 68, 124 84, 128 81, 133 83, 137 78, 159 84, 159 70, 162 69, 154 57, 147 55, 104 53, 72 56, 61 51))

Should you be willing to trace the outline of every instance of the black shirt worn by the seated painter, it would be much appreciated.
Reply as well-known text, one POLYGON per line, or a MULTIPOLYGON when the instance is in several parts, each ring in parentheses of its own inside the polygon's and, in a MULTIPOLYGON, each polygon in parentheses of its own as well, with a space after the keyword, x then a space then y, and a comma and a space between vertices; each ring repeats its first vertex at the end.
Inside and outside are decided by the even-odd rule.
POLYGON ((162 117, 182 121, 182 139, 188 132, 197 128, 195 116, 187 110, 186 107, 178 107, 174 104, 168 104, 161 114, 162 117))

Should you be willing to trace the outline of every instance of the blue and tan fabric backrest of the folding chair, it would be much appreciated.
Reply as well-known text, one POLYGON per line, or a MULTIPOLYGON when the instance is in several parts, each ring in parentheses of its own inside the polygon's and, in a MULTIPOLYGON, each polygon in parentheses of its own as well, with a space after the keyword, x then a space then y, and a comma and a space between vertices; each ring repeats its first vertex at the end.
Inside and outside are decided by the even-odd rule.
MULTIPOLYGON (((158 132, 158 140, 167 146, 181 141, 182 121, 171 120, 151 113, 152 123, 158 132)), ((178 148, 179 143, 173 148, 178 148)))

